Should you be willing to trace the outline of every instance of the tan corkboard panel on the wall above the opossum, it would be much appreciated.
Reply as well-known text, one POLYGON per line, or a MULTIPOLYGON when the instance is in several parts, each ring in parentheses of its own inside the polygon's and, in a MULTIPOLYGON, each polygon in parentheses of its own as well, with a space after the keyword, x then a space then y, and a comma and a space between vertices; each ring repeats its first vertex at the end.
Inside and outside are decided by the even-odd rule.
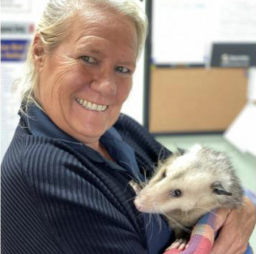
POLYGON ((246 104, 246 70, 152 68, 150 132, 223 131, 246 104))

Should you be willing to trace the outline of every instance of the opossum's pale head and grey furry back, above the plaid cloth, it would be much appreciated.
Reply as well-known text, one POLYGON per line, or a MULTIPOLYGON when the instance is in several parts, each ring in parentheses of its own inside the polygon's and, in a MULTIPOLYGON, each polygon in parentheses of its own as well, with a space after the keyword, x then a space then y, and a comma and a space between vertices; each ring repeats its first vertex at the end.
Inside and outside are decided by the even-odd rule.
POLYGON ((145 213, 194 209, 205 213, 218 207, 234 207, 241 196, 240 183, 228 157, 195 145, 160 163, 134 203, 145 213))

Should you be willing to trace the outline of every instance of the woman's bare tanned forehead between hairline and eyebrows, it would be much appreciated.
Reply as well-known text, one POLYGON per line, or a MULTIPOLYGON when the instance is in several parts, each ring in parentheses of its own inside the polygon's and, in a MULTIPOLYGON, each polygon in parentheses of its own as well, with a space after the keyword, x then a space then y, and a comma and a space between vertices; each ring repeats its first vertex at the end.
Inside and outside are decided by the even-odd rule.
POLYGON ((109 12, 105 17, 78 16, 69 28, 66 38, 77 47, 92 46, 95 43, 112 43, 126 48, 130 54, 137 57, 138 41, 135 24, 127 17, 109 12))

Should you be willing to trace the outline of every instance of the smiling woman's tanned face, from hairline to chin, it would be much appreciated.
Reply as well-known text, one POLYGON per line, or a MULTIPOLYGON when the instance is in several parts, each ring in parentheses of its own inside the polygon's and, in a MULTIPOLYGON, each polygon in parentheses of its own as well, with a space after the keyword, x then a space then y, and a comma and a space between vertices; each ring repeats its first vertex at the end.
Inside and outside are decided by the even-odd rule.
POLYGON ((94 147, 129 95, 136 29, 127 17, 94 8, 77 16, 69 31, 58 47, 44 53, 35 96, 60 129, 94 147))

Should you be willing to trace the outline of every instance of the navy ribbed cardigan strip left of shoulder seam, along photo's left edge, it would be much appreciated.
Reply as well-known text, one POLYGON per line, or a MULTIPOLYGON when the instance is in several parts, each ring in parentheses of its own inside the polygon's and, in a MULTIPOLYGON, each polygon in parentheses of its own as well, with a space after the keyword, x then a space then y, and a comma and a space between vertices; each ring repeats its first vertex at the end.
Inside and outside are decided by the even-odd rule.
POLYGON ((21 174, 21 137, 15 135, 1 165, 1 253, 67 253, 35 209, 21 174))

